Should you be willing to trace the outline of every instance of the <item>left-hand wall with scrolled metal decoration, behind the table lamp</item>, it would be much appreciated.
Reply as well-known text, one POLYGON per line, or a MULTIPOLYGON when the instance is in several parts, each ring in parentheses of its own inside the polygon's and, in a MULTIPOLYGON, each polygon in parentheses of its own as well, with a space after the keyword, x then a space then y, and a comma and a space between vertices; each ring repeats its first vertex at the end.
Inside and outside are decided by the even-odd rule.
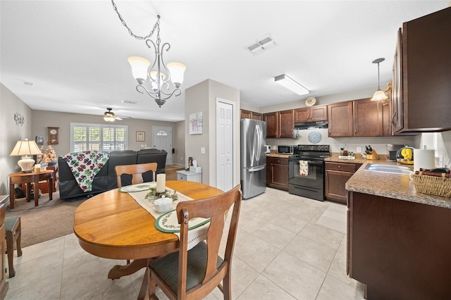
POLYGON ((19 156, 9 156, 19 140, 35 139, 32 132, 32 110, 13 92, 0 83, 0 194, 9 193, 8 174, 20 171, 19 156), (23 125, 16 125, 14 114, 25 117, 23 125))

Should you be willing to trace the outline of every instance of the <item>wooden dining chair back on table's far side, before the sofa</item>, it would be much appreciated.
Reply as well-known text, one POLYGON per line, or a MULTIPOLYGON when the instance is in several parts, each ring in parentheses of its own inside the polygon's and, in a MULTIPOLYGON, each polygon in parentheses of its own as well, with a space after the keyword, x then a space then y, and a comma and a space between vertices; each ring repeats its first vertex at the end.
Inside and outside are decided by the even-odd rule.
POLYGON ((135 165, 116 165, 114 167, 118 180, 118 187, 135 185, 137 183, 155 181, 156 163, 138 163, 135 165), (152 171, 152 180, 149 177, 152 171))

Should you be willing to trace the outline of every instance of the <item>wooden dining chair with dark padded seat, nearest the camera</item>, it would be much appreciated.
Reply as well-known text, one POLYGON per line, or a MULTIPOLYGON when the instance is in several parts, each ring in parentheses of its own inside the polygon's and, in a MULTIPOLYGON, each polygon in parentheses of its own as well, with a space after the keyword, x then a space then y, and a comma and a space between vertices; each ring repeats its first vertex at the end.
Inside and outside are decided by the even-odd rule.
POLYGON ((176 211, 180 224, 179 251, 157 259, 147 267, 149 299, 158 299, 156 286, 169 299, 203 299, 216 287, 223 292, 224 299, 231 299, 231 269, 233 246, 237 235, 242 192, 237 185, 229 192, 208 199, 183 201, 176 211), (226 213, 233 206, 230 227, 224 230, 226 213), (188 247, 188 220, 210 218, 206 242, 188 247), (224 232, 225 231, 225 232, 224 232), (218 256, 221 237, 228 235, 224 258, 218 256), (223 284, 221 285, 221 282, 223 284))

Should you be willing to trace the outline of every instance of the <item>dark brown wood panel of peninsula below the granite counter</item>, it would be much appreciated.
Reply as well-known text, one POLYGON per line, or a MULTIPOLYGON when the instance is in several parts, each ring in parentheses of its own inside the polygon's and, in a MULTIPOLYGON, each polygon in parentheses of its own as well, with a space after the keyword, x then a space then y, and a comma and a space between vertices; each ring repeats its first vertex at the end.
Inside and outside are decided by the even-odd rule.
POLYGON ((450 299, 451 209, 349 193, 347 270, 366 299, 450 299))

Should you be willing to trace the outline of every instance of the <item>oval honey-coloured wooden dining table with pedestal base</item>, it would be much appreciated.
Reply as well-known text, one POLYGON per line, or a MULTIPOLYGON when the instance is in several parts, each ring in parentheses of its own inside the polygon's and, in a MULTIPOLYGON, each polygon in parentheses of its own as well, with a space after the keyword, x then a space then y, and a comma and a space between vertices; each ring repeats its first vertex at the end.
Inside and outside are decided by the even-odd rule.
MULTIPOLYGON (((166 187, 194 200, 223 193, 216 187, 183 180, 167 181, 166 187)), ((130 260, 127 265, 113 266, 108 274, 110 279, 135 273, 152 259, 178 250, 177 235, 157 230, 154 216, 130 194, 118 189, 80 204, 75 210, 73 230, 82 249, 90 254, 130 260)))

